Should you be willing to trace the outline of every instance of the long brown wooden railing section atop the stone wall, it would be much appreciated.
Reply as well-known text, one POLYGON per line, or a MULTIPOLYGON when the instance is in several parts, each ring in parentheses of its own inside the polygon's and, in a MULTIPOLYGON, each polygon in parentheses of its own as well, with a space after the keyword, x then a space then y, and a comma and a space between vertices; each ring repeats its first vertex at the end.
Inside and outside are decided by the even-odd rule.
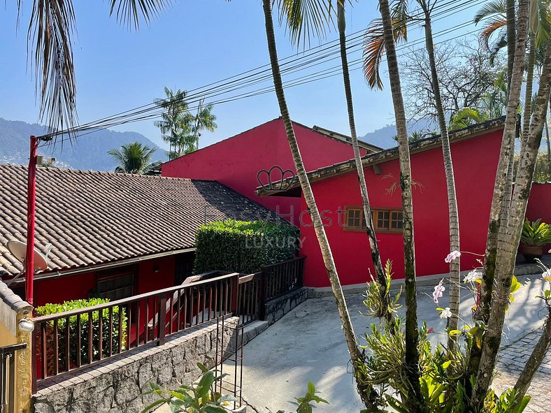
POLYGON ((237 313, 237 273, 34 318, 36 384, 237 313))

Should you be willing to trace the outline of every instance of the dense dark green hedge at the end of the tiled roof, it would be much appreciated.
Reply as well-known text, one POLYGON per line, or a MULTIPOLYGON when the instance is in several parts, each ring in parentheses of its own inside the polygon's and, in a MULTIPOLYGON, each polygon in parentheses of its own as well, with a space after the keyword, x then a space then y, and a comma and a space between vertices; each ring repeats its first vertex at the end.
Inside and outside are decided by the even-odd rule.
POLYGON ((299 229, 290 224, 233 219, 204 224, 195 236, 194 273, 256 273, 263 266, 294 258, 299 236, 299 229))

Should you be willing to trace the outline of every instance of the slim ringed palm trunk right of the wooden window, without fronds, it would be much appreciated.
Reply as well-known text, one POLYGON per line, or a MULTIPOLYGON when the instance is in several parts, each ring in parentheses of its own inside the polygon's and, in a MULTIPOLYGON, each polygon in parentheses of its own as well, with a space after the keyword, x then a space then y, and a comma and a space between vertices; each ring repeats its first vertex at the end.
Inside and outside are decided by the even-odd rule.
MULTIPOLYGON (((425 15, 424 36, 429 54, 429 63, 431 66, 431 82, 434 94, 434 103, 436 105, 436 114, 438 116, 438 125, 440 126, 442 152, 444 158, 444 169, 446 175, 446 184, 448 187, 448 212, 450 215, 450 251, 459 251, 459 212, 457 210, 457 196, 455 193, 455 176, 452 164, 452 151, 450 149, 450 137, 448 136, 448 126, 444 115, 440 85, 438 84, 438 72, 436 71, 436 59, 434 57, 434 43, 432 39, 431 16, 427 3, 421 2, 425 15)), ((450 263, 450 311, 452 317, 448 319, 448 327, 457 330, 459 324, 459 283, 461 266, 459 258, 450 263)), ((457 336, 448 336, 448 347, 455 345, 457 336)))

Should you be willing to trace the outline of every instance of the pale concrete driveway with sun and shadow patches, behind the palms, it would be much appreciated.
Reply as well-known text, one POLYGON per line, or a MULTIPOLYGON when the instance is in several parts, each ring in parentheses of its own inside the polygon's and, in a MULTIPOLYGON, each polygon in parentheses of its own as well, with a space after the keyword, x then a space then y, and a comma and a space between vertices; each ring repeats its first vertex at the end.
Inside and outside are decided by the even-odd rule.
MULTIPOLYGON (((524 285, 515 294, 506 319, 503 345, 514 342, 536 328, 545 312, 541 300, 534 298, 543 287, 541 273, 519 277, 524 285)), ((444 340, 445 320, 438 317, 437 305, 431 298, 432 287, 418 291, 419 319, 436 331, 431 339, 444 340)), ((462 291, 461 314, 471 322, 473 299, 462 291)), ((440 306, 446 307, 448 291, 440 306)), ((347 295, 347 302, 356 334, 366 333, 372 320, 363 316, 361 294, 347 295)), ((403 299, 401 299, 403 304, 403 299)), ((403 313, 403 308, 401 309, 403 313)), ((359 338, 362 344, 363 338, 359 338)), ((350 368, 336 305, 332 297, 307 300, 252 340, 244 349, 243 396, 257 412, 266 407, 294 411, 289 400, 303 396, 306 384, 315 384, 320 396, 330 405, 320 405, 317 412, 359 412, 363 408, 350 368)))

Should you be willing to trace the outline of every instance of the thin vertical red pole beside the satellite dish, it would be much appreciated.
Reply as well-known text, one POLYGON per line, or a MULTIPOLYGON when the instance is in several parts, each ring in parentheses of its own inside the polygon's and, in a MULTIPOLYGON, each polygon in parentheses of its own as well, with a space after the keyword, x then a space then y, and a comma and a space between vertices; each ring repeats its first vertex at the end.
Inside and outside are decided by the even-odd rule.
POLYGON ((31 135, 31 154, 29 157, 29 176, 27 177, 27 254, 25 255, 25 298, 33 304, 34 282, 34 209, 36 198, 36 149, 38 139, 31 135))

